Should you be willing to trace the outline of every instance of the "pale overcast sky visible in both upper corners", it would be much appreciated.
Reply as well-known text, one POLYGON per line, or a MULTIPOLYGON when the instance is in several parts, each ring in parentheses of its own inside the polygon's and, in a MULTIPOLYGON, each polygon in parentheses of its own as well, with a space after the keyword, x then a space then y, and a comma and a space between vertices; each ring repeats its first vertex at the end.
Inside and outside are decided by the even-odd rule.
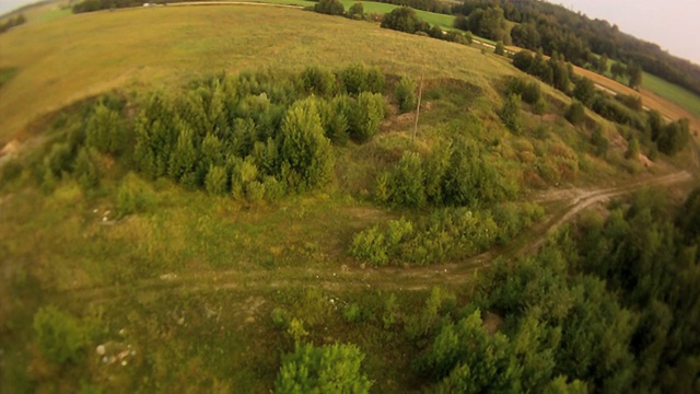
MULTIPOLYGON (((549 0, 700 65, 700 0, 549 0)), ((0 14, 34 0, 0 0, 0 14)))

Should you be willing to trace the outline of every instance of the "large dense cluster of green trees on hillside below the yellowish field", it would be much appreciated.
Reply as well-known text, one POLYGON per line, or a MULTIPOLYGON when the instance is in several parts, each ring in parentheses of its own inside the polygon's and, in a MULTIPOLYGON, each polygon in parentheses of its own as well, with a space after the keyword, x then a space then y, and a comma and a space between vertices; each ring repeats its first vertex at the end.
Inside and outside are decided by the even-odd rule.
MULTIPOLYGON (((386 113, 383 90, 382 72, 360 65, 337 73, 310 67, 299 78, 212 78, 173 101, 152 94, 132 121, 124 116, 124 101, 103 99, 86 107, 67 141, 51 146, 39 176, 47 189, 63 174, 92 189, 102 155, 125 157, 147 178, 166 176, 250 202, 276 200, 331 181, 331 141, 371 139, 386 113)), ((121 212, 140 205, 128 185, 119 194, 121 212)))

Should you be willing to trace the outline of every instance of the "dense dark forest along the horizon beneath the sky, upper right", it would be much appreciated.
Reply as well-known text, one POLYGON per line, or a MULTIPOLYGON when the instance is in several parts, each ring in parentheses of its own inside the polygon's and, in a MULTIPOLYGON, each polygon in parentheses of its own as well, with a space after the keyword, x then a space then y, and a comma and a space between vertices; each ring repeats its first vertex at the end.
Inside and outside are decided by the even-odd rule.
POLYGON ((605 72, 610 57, 618 60, 612 62, 617 69, 611 72, 628 76, 632 88, 640 85, 643 69, 700 94, 700 67, 697 65, 669 55, 656 44, 627 35, 607 21, 591 20, 551 2, 465 0, 454 5, 452 13, 469 16, 498 9, 503 10, 505 20, 515 22, 510 32, 514 45, 530 50, 542 48, 549 55, 558 53, 576 66, 598 72, 605 72), (622 70, 619 62, 631 65, 632 69, 622 70))

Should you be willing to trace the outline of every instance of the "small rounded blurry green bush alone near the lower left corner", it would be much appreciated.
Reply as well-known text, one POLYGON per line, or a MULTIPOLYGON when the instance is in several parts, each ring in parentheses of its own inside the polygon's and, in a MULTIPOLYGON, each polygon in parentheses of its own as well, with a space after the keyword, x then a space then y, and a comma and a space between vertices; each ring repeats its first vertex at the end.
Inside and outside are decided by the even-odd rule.
POLYGON ((59 364, 79 361, 86 345, 85 334, 75 317, 52 305, 36 312, 34 332, 44 357, 59 364))

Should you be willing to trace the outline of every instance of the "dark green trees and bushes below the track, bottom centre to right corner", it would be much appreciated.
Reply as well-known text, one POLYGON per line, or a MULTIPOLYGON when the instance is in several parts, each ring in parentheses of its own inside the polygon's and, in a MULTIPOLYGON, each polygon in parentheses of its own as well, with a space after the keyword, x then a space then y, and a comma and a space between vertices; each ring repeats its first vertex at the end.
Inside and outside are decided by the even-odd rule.
MULTIPOLYGON (((341 313, 388 344, 412 344, 411 373, 427 392, 697 392, 698 223, 700 189, 681 207, 644 190, 614 202, 607 218, 585 213, 534 256, 497 262, 466 303, 433 288, 422 308, 402 310, 380 292, 341 313)), ((295 344, 276 392, 369 392, 364 354, 308 343, 320 328, 300 313, 272 313, 295 344)))

